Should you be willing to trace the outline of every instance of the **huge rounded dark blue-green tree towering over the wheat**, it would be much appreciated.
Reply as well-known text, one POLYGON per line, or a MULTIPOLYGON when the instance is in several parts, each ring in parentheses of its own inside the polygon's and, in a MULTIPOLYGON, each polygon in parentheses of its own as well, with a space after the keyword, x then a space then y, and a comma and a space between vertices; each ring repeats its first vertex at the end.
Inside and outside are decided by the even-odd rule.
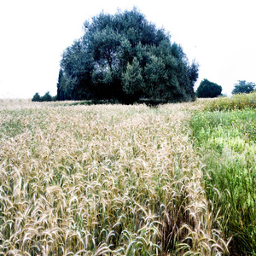
POLYGON ((84 22, 84 36, 68 47, 61 60, 59 99, 190 101, 198 77, 181 46, 132 9, 104 13, 84 22), (62 93, 62 94, 61 94, 62 93))

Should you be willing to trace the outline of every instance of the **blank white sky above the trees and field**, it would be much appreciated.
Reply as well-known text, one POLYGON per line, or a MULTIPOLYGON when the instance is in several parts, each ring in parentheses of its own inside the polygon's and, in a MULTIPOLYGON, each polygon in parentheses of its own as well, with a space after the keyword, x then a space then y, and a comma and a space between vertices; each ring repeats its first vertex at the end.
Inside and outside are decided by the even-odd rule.
POLYGON ((104 10, 136 6, 171 33, 189 61, 230 94, 237 80, 256 83, 255 0, 0 0, 0 98, 56 94, 61 54, 104 10))

